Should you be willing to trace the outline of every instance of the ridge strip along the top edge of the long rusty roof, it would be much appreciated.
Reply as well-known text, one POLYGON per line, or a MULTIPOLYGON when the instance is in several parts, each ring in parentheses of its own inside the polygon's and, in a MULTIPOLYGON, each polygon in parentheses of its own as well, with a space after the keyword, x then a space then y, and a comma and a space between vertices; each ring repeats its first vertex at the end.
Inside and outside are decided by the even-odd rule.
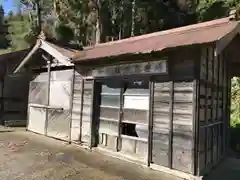
POLYGON ((162 36, 162 35, 166 35, 166 34, 185 33, 185 32, 189 32, 189 31, 198 30, 199 28, 202 28, 202 27, 213 27, 213 26, 218 26, 220 24, 229 23, 229 22, 231 22, 229 20, 229 17, 225 17, 225 18, 221 18, 221 19, 215 19, 212 21, 191 24, 191 25, 187 25, 187 26, 153 32, 153 33, 144 34, 144 35, 140 35, 140 36, 129 37, 129 38, 121 39, 121 40, 117 40, 117 41, 110 41, 110 42, 100 43, 100 44, 93 45, 93 46, 86 46, 86 47, 84 47, 84 49, 87 50, 87 49, 92 49, 92 48, 96 48, 96 47, 118 44, 118 43, 122 43, 122 42, 126 42, 126 41, 131 42, 131 41, 135 41, 135 40, 141 40, 141 39, 151 38, 151 37, 155 37, 155 36, 162 36))

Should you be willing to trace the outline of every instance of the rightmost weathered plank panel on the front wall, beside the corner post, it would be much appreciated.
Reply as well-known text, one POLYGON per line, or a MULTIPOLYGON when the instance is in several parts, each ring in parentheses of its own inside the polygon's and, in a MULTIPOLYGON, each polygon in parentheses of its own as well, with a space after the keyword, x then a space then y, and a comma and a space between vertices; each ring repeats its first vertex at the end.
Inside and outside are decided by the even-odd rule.
POLYGON ((191 173, 193 139, 193 82, 174 82, 173 169, 191 173))

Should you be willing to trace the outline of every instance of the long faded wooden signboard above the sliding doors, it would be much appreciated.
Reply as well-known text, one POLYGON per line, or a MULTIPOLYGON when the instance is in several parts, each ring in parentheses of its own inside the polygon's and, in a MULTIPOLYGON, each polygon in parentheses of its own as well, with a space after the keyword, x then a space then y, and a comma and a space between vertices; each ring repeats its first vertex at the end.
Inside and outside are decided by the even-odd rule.
POLYGON ((136 74, 166 74, 167 60, 121 64, 114 66, 97 67, 88 71, 87 76, 105 77, 105 76, 124 76, 136 74))

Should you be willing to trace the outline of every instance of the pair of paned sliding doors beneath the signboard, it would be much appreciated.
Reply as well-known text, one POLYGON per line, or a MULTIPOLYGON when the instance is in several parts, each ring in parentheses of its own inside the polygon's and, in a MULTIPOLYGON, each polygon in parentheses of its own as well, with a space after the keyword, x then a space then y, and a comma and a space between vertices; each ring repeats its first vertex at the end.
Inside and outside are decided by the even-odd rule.
POLYGON ((99 146, 147 161, 149 80, 101 81, 99 146))

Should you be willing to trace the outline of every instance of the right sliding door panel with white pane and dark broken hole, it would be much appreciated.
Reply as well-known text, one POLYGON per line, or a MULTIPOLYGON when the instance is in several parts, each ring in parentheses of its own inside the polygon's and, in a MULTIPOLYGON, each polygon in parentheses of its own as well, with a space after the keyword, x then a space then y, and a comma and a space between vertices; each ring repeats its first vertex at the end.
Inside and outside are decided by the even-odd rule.
POLYGON ((149 81, 125 80, 120 151, 142 161, 148 156, 149 81))

